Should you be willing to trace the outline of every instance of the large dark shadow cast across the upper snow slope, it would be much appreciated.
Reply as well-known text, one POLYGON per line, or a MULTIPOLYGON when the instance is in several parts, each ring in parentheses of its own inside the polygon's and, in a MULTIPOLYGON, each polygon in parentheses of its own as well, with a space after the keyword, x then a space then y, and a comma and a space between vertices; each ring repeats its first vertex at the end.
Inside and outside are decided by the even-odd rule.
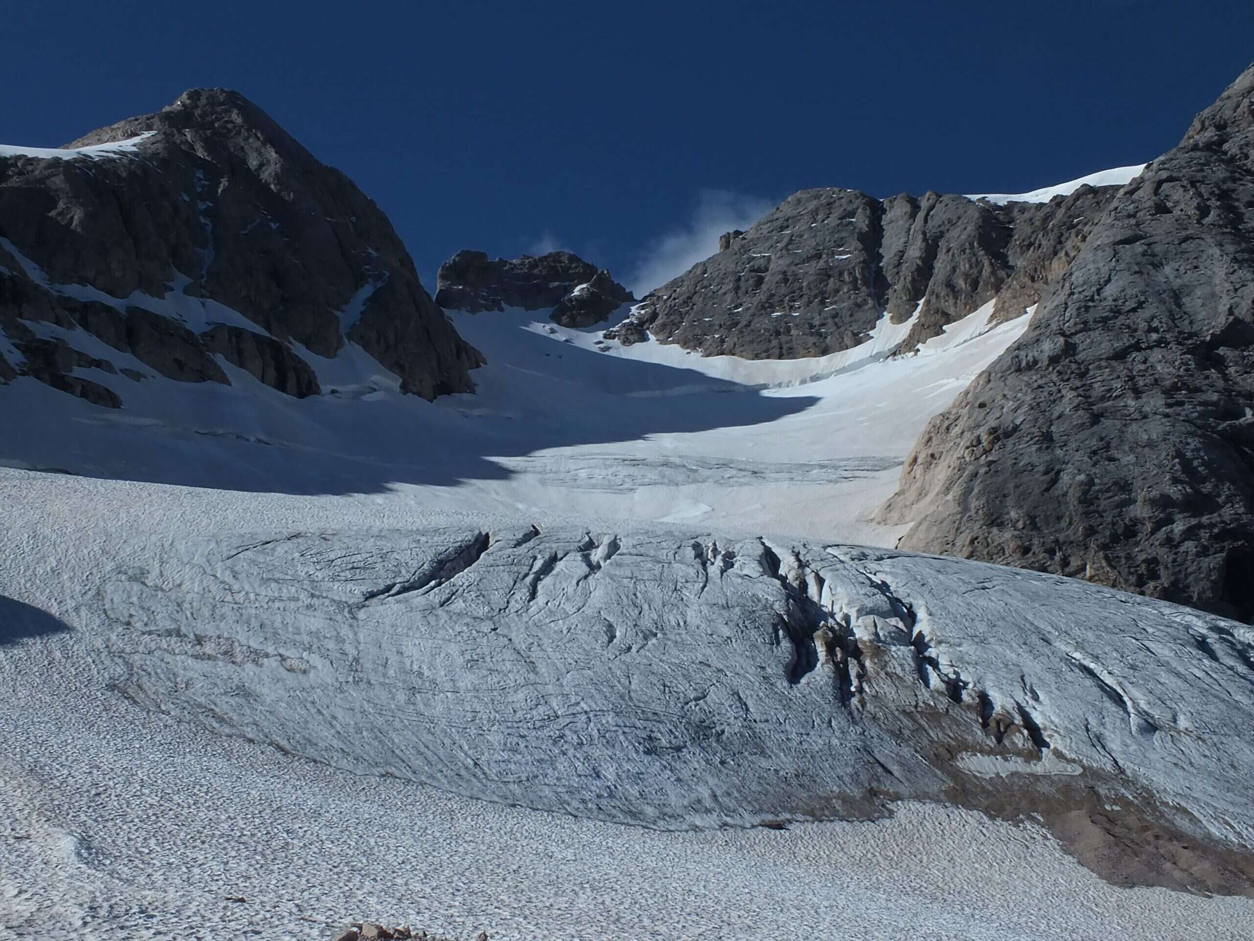
POLYGON ((123 408, 108 409, 20 378, 0 386, 0 410, 14 419, 0 465, 247 492, 376 493, 504 481, 515 473, 509 459, 545 449, 766 424, 818 401, 598 353, 510 315, 461 315, 458 329, 488 365, 473 373, 477 394, 434 403, 381 383, 325 380, 321 395, 297 400, 242 371, 229 386, 92 376, 119 390, 123 408))

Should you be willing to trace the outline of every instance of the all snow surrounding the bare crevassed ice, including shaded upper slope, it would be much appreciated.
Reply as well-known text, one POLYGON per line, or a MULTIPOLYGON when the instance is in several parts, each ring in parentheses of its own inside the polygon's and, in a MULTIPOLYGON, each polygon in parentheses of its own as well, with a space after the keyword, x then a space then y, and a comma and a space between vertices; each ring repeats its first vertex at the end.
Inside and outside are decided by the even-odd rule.
POLYGON ((129 701, 98 659, 108 573, 242 532, 648 522, 892 545, 869 514, 923 424, 1027 324, 987 317, 913 356, 877 335, 745 364, 459 315, 489 366, 434 404, 351 344, 310 358, 326 394, 302 401, 241 370, 213 389, 87 370, 117 413, 0 386, 0 937, 320 938, 361 918, 494 941, 1254 936, 1254 902, 1115 888, 1031 823, 908 803, 661 832, 504 807, 217 736, 129 701))

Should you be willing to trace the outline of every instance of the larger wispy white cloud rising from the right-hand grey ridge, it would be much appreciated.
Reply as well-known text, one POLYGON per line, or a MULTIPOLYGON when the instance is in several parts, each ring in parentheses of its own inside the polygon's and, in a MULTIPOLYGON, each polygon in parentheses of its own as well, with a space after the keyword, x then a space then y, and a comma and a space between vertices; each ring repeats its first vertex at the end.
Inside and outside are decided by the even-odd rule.
POLYGON ((637 297, 682 275, 719 251, 719 236, 749 228, 775 203, 726 189, 702 189, 688 221, 655 238, 641 252, 627 286, 637 297))

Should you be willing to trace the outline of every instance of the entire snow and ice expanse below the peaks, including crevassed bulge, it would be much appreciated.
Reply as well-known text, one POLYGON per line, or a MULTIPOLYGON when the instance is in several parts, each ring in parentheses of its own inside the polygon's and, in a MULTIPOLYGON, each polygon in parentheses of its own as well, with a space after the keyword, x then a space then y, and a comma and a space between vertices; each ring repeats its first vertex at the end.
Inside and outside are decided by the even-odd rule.
POLYGON ((0 926, 1250 937, 1097 872, 1254 842, 1254 635, 869 522, 989 314, 786 363, 455 315, 435 403, 352 344, 305 400, 0 386, 0 926))

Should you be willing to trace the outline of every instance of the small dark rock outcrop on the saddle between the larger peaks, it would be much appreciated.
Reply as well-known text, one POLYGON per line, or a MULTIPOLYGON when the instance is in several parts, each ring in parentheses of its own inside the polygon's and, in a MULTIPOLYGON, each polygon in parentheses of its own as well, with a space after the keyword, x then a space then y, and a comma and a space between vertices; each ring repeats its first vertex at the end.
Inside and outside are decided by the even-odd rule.
POLYGON ((435 302, 446 310, 553 307, 553 321, 563 326, 592 326, 633 300, 608 271, 571 252, 492 261, 484 252, 460 251, 440 265, 435 280, 435 302))

